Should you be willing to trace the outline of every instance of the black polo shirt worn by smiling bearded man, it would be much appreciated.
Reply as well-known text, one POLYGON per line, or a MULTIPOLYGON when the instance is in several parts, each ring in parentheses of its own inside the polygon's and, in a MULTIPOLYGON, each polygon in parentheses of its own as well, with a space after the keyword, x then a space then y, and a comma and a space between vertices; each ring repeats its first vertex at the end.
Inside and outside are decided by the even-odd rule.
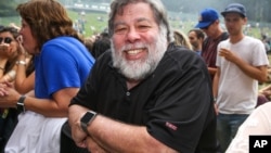
POLYGON ((155 139, 182 153, 212 153, 216 115, 204 61, 193 51, 169 48, 152 75, 131 90, 106 52, 72 100, 104 116, 146 126, 155 139))

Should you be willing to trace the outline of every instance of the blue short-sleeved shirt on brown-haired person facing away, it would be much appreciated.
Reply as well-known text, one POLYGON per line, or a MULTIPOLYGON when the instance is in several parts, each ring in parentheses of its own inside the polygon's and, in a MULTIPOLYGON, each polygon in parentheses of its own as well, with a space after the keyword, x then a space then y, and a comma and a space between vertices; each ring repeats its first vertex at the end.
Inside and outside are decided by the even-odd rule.
POLYGON ((47 41, 35 55, 35 94, 51 99, 64 88, 80 88, 94 64, 83 43, 73 37, 57 37, 47 41))

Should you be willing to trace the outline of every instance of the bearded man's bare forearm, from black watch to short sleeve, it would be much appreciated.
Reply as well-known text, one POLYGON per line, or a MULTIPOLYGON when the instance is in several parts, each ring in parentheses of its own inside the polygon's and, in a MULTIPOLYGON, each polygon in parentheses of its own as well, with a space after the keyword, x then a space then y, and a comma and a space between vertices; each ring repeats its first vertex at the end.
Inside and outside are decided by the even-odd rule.
POLYGON ((88 128, 102 148, 111 152, 176 152, 146 131, 146 127, 132 126, 98 115, 88 128))

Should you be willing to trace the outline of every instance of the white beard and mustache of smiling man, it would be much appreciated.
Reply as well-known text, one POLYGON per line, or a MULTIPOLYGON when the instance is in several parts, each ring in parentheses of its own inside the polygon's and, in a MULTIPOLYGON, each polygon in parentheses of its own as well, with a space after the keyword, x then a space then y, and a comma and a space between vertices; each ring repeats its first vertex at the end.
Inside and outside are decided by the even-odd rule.
POLYGON ((167 36, 166 28, 160 26, 160 33, 154 43, 147 44, 144 42, 137 42, 136 44, 125 44, 120 51, 115 50, 112 42, 112 56, 113 66, 118 68, 119 72, 128 79, 141 80, 154 72, 159 61, 167 50, 167 36), (146 48, 147 56, 137 61, 127 61, 124 58, 124 51, 131 48, 146 48))

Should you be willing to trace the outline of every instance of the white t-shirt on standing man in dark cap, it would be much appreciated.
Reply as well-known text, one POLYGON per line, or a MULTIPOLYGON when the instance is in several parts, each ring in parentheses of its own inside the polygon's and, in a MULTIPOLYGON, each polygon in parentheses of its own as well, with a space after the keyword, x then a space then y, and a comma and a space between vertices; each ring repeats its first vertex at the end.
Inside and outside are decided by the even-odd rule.
MULTIPOLYGON (((231 43, 229 39, 218 44, 234 52, 253 66, 269 65, 264 46, 259 39, 245 36, 240 42, 231 43)), ((216 65, 220 67, 217 103, 222 114, 250 114, 255 109, 258 81, 247 76, 237 65, 217 54, 216 65)))

